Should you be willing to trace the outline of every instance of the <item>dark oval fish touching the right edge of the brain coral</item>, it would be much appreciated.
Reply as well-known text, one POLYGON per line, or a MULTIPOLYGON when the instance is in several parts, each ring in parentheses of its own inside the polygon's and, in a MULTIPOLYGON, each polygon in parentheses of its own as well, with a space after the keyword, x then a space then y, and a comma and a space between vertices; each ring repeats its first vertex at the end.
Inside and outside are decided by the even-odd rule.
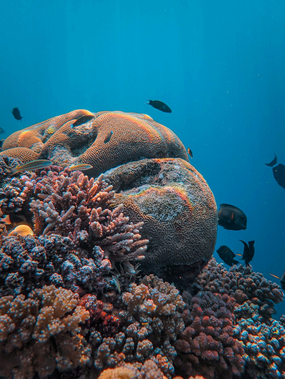
POLYGON ((244 212, 230 204, 220 204, 218 225, 227 230, 245 230, 247 218, 244 212))

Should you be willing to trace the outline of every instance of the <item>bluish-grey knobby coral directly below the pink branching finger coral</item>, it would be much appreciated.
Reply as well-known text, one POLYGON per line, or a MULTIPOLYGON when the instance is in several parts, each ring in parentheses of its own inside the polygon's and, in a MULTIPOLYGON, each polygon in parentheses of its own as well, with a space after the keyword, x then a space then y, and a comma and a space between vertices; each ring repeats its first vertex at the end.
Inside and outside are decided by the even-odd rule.
POLYGON ((5 236, 0 244, 0 292, 2 295, 23 293, 35 287, 54 284, 74 292, 101 292, 108 288, 103 275, 109 273, 111 263, 104 252, 94 246, 87 257, 73 249, 69 237, 56 234, 28 236, 22 241, 16 236, 5 236))

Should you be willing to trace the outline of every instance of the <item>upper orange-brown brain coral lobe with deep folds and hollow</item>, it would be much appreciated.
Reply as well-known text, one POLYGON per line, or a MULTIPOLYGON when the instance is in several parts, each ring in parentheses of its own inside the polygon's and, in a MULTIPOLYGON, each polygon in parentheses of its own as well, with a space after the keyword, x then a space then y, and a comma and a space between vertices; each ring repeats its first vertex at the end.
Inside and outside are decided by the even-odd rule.
POLYGON ((180 139, 146 114, 75 110, 19 130, 5 139, 2 152, 23 163, 48 158, 65 167, 89 163, 90 174, 116 167, 141 157, 179 157, 188 161, 180 139), (85 124, 71 128, 81 116, 94 116, 85 124), (50 132, 53 133, 50 133, 50 132), (106 136, 112 131, 109 142, 106 136))

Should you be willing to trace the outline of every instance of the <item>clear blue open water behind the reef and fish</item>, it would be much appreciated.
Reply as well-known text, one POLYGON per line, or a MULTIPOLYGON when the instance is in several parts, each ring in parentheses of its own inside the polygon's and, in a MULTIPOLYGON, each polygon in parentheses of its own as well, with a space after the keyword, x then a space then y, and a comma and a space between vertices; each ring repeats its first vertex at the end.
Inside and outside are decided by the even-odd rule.
POLYGON ((283 273, 285 189, 264 165, 274 153, 285 164, 283 0, 18 0, 1 8, 4 137, 78 108, 147 113, 192 149, 217 205, 245 211, 247 230, 219 227, 216 249, 242 253, 238 240, 255 240, 255 271, 283 273))

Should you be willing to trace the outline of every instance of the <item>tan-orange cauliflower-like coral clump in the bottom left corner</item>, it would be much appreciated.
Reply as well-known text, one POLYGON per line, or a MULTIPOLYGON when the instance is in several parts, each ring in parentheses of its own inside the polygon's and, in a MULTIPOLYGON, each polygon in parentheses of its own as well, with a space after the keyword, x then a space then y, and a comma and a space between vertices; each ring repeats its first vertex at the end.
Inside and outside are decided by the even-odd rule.
POLYGON ((89 362, 90 348, 79 324, 89 312, 78 296, 53 285, 0 299, 0 374, 40 378, 89 362))

